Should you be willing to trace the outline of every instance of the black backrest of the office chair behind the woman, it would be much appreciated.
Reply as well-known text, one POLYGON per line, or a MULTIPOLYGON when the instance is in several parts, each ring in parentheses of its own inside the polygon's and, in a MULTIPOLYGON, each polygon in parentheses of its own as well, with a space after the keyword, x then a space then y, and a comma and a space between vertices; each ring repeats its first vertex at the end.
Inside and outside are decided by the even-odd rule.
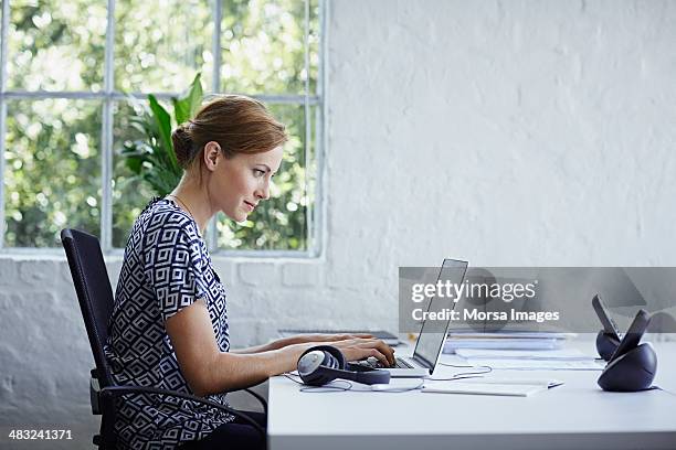
POLYGON ((87 329, 101 387, 113 385, 104 354, 108 322, 113 314, 113 289, 96 236, 78 229, 62 229, 61 242, 68 259, 73 285, 87 329))

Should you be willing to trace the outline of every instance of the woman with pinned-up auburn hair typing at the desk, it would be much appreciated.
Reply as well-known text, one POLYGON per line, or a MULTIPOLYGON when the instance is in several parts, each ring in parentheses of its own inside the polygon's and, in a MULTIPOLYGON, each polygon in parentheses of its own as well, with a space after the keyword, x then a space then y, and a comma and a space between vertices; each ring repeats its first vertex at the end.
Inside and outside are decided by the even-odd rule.
MULTIPOLYGON (((228 405, 228 390, 295 369, 300 354, 332 341, 347 360, 392 350, 368 335, 300 335, 230 349, 225 292, 202 233, 219 211, 242 222, 270 197, 282 162, 284 126, 243 96, 220 97, 172 133, 184 169, 179 185, 134 223, 125 248, 106 355, 115 382, 156 386, 228 405)), ((263 426, 265 417, 256 417, 263 426)), ((253 427, 188 400, 134 396, 115 424, 124 448, 254 448, 253 427), (228 447, 230 446, 230 447, 228 447)), ((257 444, 264 448, 265 443, 257 444)))

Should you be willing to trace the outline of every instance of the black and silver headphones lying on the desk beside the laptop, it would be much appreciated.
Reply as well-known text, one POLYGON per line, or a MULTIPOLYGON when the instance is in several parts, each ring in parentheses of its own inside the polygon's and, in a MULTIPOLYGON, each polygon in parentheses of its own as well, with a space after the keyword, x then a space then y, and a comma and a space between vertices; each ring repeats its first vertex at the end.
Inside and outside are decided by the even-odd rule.
POLYGON ((390 383, 388 371, 347 363, 340 350, 332 345, 317 345, 303 352, 298 358, 298 375, 310 386, 323 386, 336 378, 368 385, 390 383))

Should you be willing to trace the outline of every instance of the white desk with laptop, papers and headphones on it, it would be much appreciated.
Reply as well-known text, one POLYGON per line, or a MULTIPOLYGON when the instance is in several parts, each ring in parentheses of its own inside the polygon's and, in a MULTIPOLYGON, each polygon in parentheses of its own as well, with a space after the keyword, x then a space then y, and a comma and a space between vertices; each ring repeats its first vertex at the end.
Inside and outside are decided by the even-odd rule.
MULTIPOLYGON (((654 384, 670 392, 605 393, 596 385, 600 372, 587 371, 520 372, 517 375, 522 377, 566 382, 531 397, 308 394, 285 377, 274 377, 270 381, 268 446, 271 450, 674 449, 676 343, 656 344, 655 350, 654 384)), ((444 355, 442 361, 452 357, 444 355)), ((435 377, 463 369, 437 371, 435 377)), ((514 373, 496 371, 494 375, 514 373)))

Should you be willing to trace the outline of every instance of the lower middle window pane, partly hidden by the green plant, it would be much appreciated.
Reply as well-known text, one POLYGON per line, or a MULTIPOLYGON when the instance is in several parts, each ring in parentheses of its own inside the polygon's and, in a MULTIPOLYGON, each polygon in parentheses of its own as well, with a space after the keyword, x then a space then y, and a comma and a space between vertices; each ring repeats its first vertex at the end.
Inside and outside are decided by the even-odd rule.
POLYGON ((120 156, 125 144, 144 141, 144 133, 130 124, 131 106, 126 101, 117 103, 113 114, 113 247, 124 248, 134 221, 157 193, 148 183, 134 178, 126 159, 120 156))

